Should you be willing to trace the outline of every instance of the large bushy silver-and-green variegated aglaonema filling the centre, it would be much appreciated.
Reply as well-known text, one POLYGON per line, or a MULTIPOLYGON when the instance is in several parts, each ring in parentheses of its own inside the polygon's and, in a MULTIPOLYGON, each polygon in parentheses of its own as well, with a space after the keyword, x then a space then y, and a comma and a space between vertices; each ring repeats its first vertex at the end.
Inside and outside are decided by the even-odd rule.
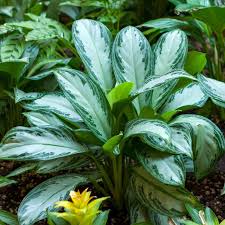
POLYGON ((201 208, 185 189, 187 165, 198 179, 206 176, 224 153, 224 136, 207 118, 181 112, 209 98, 224 106, 215 86, 204 89, 224 84, 183 70, 188 42, 181 30, 163 34, 154 47, 135 27, 113 41, 105 25, 88 19, 75 21, 72 34, 85 72, 56 69, 57 92, 36 99, 15 92, 30 127, 13 128, 2 140, 1 159, 26 162, 8 177, 70 171, 28 193, 19 224, 46 218, 55 202, 86 183, 111 196, 117 210, 126 207, 131 224, 165 225, 186 214, 184 204, 201 208), (191 82, 178 89, 182 79, 191 82))

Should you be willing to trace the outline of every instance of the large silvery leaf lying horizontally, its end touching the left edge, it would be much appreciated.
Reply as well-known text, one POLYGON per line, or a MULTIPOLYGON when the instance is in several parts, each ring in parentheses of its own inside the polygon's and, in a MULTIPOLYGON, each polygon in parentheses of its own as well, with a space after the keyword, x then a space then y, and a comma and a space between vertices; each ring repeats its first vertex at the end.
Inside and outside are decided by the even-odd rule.
POLYGON ((3 138, 0 159, 51 160, 87 151, 63 129, 16 127, 3 138))

